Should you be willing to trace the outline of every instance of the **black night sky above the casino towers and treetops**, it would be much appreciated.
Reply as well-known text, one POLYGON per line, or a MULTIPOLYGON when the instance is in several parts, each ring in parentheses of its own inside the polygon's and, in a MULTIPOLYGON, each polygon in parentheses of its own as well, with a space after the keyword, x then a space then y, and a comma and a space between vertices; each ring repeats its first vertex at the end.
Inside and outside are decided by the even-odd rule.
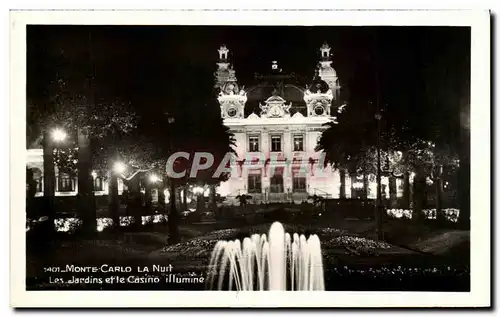
POLYGON ((64 52, 77 66, 62 67, 79 69, 76 80, 93 65, 99 99, 126 100, 143 118, 196 111, 213 97, 221 44, 249 86, 272 60, 312 80, 325 41, 350 106, 363 109, 378 95, 391 120, 411 118, 423 130, 438 121, 450 135, 460 128, 469 107, 470 29, 459 27, 29 26, 27 97, 46 102, 61 71, 54 58, 64 52))

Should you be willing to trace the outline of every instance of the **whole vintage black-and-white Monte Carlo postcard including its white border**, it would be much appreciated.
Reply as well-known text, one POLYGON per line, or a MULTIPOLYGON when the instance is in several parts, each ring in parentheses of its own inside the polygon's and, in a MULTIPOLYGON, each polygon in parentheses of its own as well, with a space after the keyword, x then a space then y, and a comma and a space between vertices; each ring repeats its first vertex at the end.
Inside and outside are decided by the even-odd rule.
POLYGON ((489 307, 489 32, 11 11, 11 305, 489 307))

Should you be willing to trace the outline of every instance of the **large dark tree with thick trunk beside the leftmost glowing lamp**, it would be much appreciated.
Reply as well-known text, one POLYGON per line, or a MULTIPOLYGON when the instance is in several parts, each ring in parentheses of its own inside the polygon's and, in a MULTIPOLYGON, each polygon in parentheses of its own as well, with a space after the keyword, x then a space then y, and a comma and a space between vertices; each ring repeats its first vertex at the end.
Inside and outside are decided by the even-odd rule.
MULTIPOLYGON (((95 85, 90 32, 87 53, 81 55, 61 49, 44 56, 44 90, 36 98, 30 98, 30 104, 32 109, 37 109, 32 116, 36 121, 32 132, 42 131, 45 144, 50 142, 48 133, 54 127, 76 131, 78 208, 84 231, 93 233, 96 215, 91 176, 92 143, 109 134, 130 131, 135 127, 135 115, 130 104, 105 95, 95 85)), ((44 161, 50 164, 50 153, 44 156, 44 161)), ((44 168, 44 173, 46 178, 52 174, 50 168, 44 168)))

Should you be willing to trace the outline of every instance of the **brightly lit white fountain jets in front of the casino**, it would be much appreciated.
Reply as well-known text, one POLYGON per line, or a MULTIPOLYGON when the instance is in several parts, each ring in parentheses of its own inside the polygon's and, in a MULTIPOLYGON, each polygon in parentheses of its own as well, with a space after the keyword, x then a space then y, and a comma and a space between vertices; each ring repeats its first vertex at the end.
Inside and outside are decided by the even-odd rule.
POLYGON ((243 243, 218 241, 208 270, 209 289, 214 289, 217 279, 218 290, 325 290, 318 236, 306 239, 294 233, 292 239, 279 222, 272 224, 269 237, 254 234, 243 243))

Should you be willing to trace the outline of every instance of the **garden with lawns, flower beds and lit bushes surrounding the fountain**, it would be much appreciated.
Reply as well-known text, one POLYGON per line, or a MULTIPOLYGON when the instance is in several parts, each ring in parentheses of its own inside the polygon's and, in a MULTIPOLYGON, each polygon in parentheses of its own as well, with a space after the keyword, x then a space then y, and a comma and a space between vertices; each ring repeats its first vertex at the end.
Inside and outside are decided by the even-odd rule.
MULTIPOLYGON (((56 219, 57 238, 49 251, 41 252, 40 246, 28 250, 27 288, 206 289, 205 283, 173 284, 163 282, 165 279, 159 283, 114 285, 52 283, 54 272, 44 272, 44 268, 68 264, 172 265, 177 276, 206 278, 212 250, 219 240, 242 241, 255 233, 267 233, 274 221, 280 221, 291 234, 319 237, 326 290, 468 291, 470 288, 469 232, 455 227, 456 210, 446 212, 445 227, 433 225, 432 210, 426 212, 428 219, 420 225, 406 217, 408 212, 404 210, 387 210, 384 239, 378 240, 375 223, 368 218, 341 219, 331 212, 300 205, 260 206, 253 213, 232 208, 232 217, 228 217, 230 210, 224 211, 226 220, 192 223, 184 219, 179 227, 181 242, 171 245, 166 244, 168 218, 160 213, 143 216, 139 229, 132 229, 132 217, 121 217, 119 230, 113 229, 110 218, 99 218, 99 232, 93 239, 78 235, 79 219, 56 219)), ((29 241, 36 239, 40 221, 43 223, 44 219, 27 223, 29 241)), ((104 278, 109 273, 101 275, 104 278)), ((83 278, 88 274, 77 276, 83 278)))

